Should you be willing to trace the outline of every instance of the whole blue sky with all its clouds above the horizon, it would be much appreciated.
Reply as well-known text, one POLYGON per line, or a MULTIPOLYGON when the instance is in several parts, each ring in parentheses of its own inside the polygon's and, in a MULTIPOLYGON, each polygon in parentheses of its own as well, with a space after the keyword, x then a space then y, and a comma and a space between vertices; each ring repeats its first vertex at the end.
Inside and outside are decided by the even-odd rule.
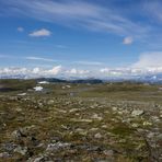
POLYGON ((0 0, 0 76, 162 72, 161 0, 0 0))

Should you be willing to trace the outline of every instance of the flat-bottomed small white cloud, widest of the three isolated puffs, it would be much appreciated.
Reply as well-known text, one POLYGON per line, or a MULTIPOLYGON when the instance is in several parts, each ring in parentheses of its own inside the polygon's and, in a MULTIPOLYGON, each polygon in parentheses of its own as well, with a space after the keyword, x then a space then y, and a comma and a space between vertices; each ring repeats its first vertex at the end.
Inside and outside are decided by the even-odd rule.
POLYGON ((30 36, 32 37, 44 37, 44 36, 50 36, 50 35, 51 35, 51 32, 46 28, 34 31, 30 34, 30 36))

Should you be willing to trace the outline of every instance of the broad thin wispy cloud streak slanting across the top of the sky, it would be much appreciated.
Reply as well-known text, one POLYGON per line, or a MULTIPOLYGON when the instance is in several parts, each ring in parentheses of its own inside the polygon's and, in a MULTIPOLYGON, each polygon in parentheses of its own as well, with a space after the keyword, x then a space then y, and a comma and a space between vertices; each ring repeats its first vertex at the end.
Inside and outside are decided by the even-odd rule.
MULTIPOLYGON (((25 15, 51 23, 70 24, 119 35, 140 35, 148 32, 148 26, 131 22, 117 13, 117 10, 94 2, 81 0, 8 0, 2 3, 12 14, 25 15)), ((37 33, 35 35, 37 36, 37 33)))

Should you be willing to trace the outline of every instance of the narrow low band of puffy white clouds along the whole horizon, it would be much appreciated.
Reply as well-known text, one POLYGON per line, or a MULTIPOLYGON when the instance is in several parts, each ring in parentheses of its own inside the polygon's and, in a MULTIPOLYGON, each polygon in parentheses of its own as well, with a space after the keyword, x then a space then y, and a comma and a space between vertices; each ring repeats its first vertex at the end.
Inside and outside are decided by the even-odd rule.
POLYGON ((99 70, 66 69, 56 66, 44 68, 1 68, 0 78, 97 78, 97 79, 136 79, 150 74, 162 74, 162 67, 158 68, 101 68, 99 70))

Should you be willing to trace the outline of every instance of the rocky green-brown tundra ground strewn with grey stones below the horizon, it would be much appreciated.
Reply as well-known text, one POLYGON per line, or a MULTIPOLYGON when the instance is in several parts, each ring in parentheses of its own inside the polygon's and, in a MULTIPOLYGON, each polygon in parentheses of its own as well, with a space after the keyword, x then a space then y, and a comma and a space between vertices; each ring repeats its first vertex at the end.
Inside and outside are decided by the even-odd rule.
POLYGON ((161 162, 162 91, 0 81, 0 161, 161 162))

